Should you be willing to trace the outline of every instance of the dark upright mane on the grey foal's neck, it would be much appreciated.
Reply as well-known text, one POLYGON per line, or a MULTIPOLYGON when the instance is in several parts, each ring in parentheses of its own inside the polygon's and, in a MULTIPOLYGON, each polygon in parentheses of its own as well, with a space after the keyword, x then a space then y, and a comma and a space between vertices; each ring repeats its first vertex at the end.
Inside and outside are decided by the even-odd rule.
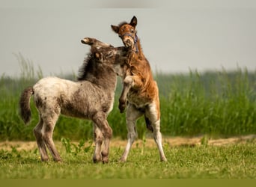
POLYGON ((89 70, 91 69, 91 65, 93 64, 92 61, 94 61, 94 55, 92 52, 90 52, 87 57, 84 60, 84 63, 82 64, 81 67, 79 67, 79 73, 77 80, 82 81, 86 79, 86 76, 88 75, 89 70))

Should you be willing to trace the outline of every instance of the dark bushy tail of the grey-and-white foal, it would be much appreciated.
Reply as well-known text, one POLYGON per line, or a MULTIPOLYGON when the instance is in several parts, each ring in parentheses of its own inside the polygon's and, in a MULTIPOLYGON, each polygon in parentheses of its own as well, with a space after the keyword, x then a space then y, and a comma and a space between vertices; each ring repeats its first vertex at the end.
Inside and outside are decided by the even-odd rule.
POLYGON ((28 87, 22 92, 19 99, 20 115, 24 123, 28 123, 31 117, 30 97, 34 94, 33 88, 28 87))

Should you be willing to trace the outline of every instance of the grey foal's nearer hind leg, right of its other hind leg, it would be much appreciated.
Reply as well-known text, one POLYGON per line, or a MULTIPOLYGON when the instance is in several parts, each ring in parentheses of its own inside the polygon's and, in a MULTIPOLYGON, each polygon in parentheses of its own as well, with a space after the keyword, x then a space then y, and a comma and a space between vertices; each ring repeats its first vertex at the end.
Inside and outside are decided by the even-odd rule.
POLYGON ((55 111, 52 111, 51 114, 46 115, 46 117, 43 118, 43 141, 48 147, 55 162, 61 161, 61 156, 59 155, 55 147, 55 144, 52 140, 52 134, 55 127, 55 123, 58 120, 58 116, 59 112, 56 113, 55 111))

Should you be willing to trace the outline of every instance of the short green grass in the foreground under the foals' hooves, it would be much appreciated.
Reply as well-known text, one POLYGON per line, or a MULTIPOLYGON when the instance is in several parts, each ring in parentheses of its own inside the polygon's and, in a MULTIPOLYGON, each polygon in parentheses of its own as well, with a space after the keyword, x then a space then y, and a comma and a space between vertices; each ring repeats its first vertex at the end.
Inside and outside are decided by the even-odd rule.
POLYGON ((132 147, 127 162, 118 162, 124 147, 111 147, 110 162, 94 164, 94 147, 67 153, 60 148, 63 162, 40 162, 36 150, 0 150, 1 179, 255 179, 256 144, 226 146, 169 147, 164 146, 168 162, 159 162, 156 148, 132 147))

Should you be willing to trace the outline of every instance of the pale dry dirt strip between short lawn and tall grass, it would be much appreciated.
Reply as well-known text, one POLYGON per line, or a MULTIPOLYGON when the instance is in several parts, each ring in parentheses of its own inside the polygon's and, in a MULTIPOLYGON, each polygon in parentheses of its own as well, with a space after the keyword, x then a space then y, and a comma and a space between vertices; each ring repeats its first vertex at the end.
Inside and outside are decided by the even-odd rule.
MULTIPOLYGON (((256 135, 246 135, 233 138, 219 138, 211 139, 204 136, 195 138, 183 138, 183 137, 168 137, 162 138, 162 144, 168 144, 170 147, 194 147, 201 144, 208 144, 213 146, 223 146, 228 144, 244 144, 248 141, 256 142, 256 135)), ((74 142, 78 144, 77 142, 74 142)), ((60 141, 55 141, 56 147, 61 147, 60 141)), ((113 138, 110 146, 111 147, 125 147, 127 140, 121 140, 113 138)), ((145 141, 136 140, 133 147, 156 147, 156 143, 153 138, 146 138, 145 141)), ((36 141, 1 141, 0 150, 12 150, 15 147, 16 150, 35 150, 37 149, 36 141)))

